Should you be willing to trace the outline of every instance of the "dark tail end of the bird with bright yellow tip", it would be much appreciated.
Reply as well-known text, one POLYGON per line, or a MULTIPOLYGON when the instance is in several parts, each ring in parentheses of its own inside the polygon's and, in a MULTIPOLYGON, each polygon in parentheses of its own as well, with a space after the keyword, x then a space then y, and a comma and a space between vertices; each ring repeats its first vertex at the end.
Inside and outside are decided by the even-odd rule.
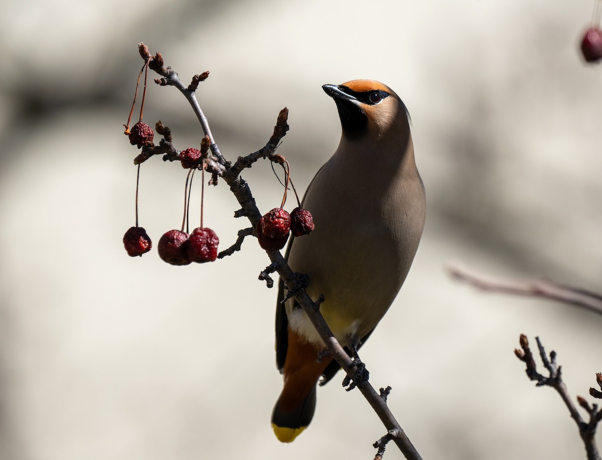
POLYGON ((315 411, 315 384, 308 395, 293 408, 287 408, 283 391, 272 413, 272 428, 281 443, 291 443, 311 422, 315 411))

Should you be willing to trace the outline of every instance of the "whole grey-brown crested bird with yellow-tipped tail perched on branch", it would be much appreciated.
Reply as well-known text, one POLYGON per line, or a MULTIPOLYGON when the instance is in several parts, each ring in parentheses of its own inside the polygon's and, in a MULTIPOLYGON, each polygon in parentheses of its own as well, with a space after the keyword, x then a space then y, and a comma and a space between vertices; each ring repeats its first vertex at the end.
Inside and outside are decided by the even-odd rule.
MULTIPOLYGON (((291 241, 288 263, 309 275, 312 298, 324 294, 320 311, 341 345, 352 350, 382 319, 408 275, 426 200, 399 96, 371 80, 323 88, 337 103, 343 135, 303 198, 315 230, 291 241)), ((332 358, 315 362, 324 348, 292 299, 279 305, 276 355, 284 388, 272 422, 281 441, 292 441, 309 424, 317 379, 338 369, 332 358)))

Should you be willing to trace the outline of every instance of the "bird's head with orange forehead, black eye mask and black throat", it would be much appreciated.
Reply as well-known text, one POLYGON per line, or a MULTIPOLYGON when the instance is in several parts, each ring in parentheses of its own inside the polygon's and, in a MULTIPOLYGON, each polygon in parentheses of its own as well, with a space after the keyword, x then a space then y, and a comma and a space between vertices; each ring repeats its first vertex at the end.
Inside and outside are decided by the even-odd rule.
POLYGON ((352 80, 322 89, 337 104, 343 135, 349 139, 366 135, 381 138, 390 130, 407 132, 409 115, 399 96, 374 80, 352 80))

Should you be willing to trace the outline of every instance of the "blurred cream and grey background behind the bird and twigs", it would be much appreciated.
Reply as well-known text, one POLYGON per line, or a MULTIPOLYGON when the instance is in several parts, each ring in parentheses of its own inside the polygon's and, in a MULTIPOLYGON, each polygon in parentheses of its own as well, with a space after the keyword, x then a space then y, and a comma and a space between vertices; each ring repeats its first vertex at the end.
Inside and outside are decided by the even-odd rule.
MULTIPOLYGON (((138 150, 122 124, 140 41, 184 81, 211 72, 197 94, 229 159, 264 146, 287 106, 278 152, 301 190, 340 137, 321 85, 394 88, 429 211, 408 280, 362 349, 372 384, 393 387, 389 405, 425 459, 585 458, 560 398, 512 351, 520 333, 540 336, 572 396, 587 396, 602 317, 477 292, 444 268, 602 290, 601 69, 578 52, 593 1, 5 1, 0 458, 369 459, 384 434, 337 378, 306 432, 276 441, 276 290, 257 280, 268 259, 255 241, 211 265, 126 255, 138 150)), ((202 138, 178 91, 152 84, 144 121, 157 120, 178 149, 202 138)), ((262 212, 278 206, 267 162, 244 177, 262 212)), ((184 179, 158 158, 141 168, 154 242, 179 228, 184 179)), ((193 222, 199 195, 195 182, 193 222)), ((222 248, 246 226, 236 209, 228 188, 206 189, 222 248)))

